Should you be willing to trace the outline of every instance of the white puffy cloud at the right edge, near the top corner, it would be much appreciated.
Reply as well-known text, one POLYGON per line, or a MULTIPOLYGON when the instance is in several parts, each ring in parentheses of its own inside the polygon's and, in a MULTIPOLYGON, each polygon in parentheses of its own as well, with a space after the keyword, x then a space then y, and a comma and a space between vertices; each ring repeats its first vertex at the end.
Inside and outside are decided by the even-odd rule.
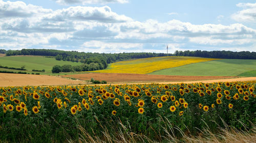
POLYGON ((256 22, 256 3, 239 3, 237 7, 242 7, 243 10, 231 16, 234 20, 240 22, 256 22))

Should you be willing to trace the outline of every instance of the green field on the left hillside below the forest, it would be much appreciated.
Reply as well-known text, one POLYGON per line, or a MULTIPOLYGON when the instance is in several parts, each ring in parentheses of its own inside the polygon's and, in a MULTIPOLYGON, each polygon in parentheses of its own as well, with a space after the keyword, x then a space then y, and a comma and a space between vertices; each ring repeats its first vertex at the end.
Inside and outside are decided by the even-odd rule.
MULTIPOLYGON (((0 65, 2 66, 8 66, 8 67, 14 67, 14 68, 20 68, 22 66, 25 66, 25 69, 27 69, 26 72, 32 73, 33 69, 35 70, 42 70, 45 69, 46 72, 33 72, 33 73, 40 73, 40 74, 50 74, 52 67, 54 65, 80 65, 81 63, 76 62, 68 62, 68 61, 57 61, 54 58, 45 58, 44 56, 3 56, 0 57, 0 65)), ((14 71, 17 72, 19 70, 11 70, 11 69, 4 69, 1 68, 1 70, 6 71, 14 71)))

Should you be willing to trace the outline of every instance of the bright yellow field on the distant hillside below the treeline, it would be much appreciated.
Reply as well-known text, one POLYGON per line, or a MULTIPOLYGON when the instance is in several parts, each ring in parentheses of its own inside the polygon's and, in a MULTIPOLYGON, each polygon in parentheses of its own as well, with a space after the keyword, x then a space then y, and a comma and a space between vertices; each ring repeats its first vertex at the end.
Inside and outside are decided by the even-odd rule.
POLYGON ((146 74, 154 71, 179 67, 187 64, 206 62, 218 59, 184 57, 184 56, 165 56, 155 58, 144 58, 132 61, 112 63, 108 69, 97 70, 99 73, 137 73, 146 74))

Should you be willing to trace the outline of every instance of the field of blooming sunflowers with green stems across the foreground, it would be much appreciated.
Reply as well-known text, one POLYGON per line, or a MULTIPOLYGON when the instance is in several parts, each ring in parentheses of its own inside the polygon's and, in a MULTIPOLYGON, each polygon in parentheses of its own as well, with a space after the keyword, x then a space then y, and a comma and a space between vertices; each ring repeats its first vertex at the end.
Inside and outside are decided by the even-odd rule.
POLYGON ((78 142, 124 132, 162 140, 168 132, 198 134, 255 124, 255 81, 0 88, 0 142, 78 142), (169 128, 164 128, 164 127, 169 128), (177 129, 174 130, 173 129, 177 129))

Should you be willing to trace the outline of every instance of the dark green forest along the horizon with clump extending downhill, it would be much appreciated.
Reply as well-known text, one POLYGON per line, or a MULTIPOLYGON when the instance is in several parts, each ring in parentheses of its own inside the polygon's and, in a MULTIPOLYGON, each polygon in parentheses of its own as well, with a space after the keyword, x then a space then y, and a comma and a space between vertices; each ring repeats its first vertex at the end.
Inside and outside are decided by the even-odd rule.
MULTIPOLYGON (((4 50, 0 49, 0 53, 10 55, 44 55, 54 57, 59 61, 81 62, 81 66, 62 66, 56 67, 58 72, 69 71, 93 71, 105 69, 108 64, 140 58, 152 58, 156 56, 198 56, 203 58, 217 59, 256 59, 256 52, 249 51, 175 51, 175 53, 151 53, 151 52, 132 52, 132 53, 92 53, 78 51, 63 51, 54 49, 22 49, 22 50, 4 50)), ((54 71, 54 70, 53 70, 54 71)))

